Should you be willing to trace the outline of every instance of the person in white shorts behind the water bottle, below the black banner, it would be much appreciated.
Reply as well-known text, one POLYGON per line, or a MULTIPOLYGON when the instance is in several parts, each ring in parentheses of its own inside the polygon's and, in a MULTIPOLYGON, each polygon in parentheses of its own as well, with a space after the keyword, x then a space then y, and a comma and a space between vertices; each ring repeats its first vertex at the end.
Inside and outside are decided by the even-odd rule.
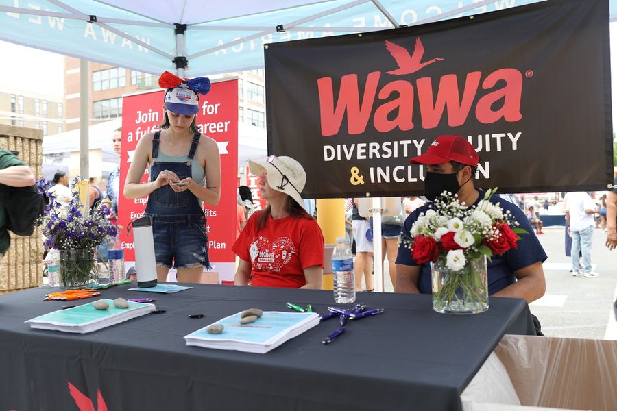
POLYGON ((373 242, 367 237, 367 232, 371 229, 369 220, 360 215, 358 210, 358 199, 353 199, 352 208, 352 227, 354 230, 354 241, 356 242, 356 260, 354 261, 354 276, 356 280, 356 291, 362 290, 362 278, 364 277, 365 290, 373 291, 373 242))

